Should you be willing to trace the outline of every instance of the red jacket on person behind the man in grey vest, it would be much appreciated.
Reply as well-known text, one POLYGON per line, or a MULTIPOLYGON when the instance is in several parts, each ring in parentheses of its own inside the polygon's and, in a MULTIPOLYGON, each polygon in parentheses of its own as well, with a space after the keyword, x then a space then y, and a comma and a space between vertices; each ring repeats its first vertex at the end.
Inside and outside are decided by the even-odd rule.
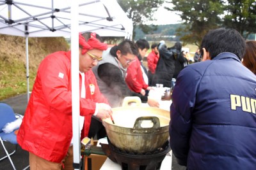
POLYGON ((143 80, 143 74, 140 67, 140 61, 138 57, 132 64, 127 67, 127 75, 125 81, 133 92, 140 93, 141 89, 147 89, 148 85, 143 80))

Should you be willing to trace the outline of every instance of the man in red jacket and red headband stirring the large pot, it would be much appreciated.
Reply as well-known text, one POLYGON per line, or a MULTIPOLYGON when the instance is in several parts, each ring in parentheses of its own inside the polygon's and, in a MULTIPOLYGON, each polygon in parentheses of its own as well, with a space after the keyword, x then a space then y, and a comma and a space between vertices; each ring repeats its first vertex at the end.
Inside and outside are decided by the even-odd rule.
MULTIPOLYGON (((108 45, 92 32, 79 34, 80 127, 88 136, 91 117, 111 117, 111 107, 97 86, 92 67, 108 45)), ((17 134, 29 152, 30 169, 73 169, 71 51, 51 53, 40 63, 17 134)))

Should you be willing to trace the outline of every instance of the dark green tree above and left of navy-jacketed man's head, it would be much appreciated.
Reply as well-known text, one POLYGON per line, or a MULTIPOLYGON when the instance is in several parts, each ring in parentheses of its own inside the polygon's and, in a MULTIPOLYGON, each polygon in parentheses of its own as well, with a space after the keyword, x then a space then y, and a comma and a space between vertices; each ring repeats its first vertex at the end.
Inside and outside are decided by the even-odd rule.
POLYGON ((177 29, 177 36, 186 43, 200 46, 200 42, 206 32, 220 26, 220 16, 223 14, 222 1, 208 0, 173 0, 174 7, 171 11, 181 11, 180 18, 184 21, 184 27, 177 29), (185 34, 184 34, 185 32, 185 34))

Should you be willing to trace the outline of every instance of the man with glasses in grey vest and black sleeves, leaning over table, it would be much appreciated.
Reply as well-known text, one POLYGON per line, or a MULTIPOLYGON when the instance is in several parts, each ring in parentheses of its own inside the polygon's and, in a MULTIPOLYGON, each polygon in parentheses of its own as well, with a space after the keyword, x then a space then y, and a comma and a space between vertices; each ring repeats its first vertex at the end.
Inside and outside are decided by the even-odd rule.
MULTIPOLYGON (((148 103, 149 106, 159 107, 158 101, 143 96, 136 92, 132 92, 125 83, 127 67, 136 59, 138 55, 138 47, 129 39, 125 39, 119 45, 113 46, 103 53, 103 59, 98 66, 93 67, 93 73, 97 78, 100 92, 107 97, 109 105, 112 108, 122 106, 124 97, 138 96, 142 103, 148 103)), ((106 131, 102 122, 97 118, 92 118, 89 137, 103 138, 106 131)))

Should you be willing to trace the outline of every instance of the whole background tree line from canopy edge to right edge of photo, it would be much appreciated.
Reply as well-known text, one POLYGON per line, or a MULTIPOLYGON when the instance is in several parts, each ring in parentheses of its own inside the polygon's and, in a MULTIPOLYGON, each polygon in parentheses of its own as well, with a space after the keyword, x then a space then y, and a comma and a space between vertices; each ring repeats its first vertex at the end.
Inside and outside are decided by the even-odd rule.
MULTIPOLYGON (((140 31, 155 34, 159 26, 145 23, 154 20, 154 12, 163 3, 173 4, 172 8, 165 6, 166 10, 179 11, 182 23, 174 32, 185 45, 200 46, 206 32, 217 27, 234 28, 245 39, 256 32, 255 0, 118 0, 118 3, 133 21, 134 39, 140 31)), ((166 29, 166 34, 168 31, 173 30, 166 29)))

